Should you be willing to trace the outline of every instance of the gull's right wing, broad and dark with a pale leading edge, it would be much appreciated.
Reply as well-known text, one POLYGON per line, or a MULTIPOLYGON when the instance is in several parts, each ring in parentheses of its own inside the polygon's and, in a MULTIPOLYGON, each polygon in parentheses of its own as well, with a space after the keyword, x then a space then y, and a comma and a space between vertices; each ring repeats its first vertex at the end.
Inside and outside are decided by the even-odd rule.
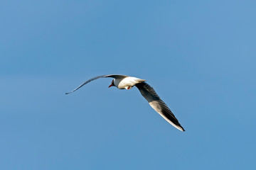
POLYGON ((154 89, 149 86, 149 84, 142 82, 136 84, 135 86, 137 86, 142 96, 146 98, 146 101, 149 102, 149 105, 154 108, 157 113, 159 113, 167 122, 171 123, 171 125, 173 125, 178 130, 185 131, 178 123, 174 113, 171 112, 166 103, 161 100, 161 98, 156 94, 156 91, 154 91, 154 89))

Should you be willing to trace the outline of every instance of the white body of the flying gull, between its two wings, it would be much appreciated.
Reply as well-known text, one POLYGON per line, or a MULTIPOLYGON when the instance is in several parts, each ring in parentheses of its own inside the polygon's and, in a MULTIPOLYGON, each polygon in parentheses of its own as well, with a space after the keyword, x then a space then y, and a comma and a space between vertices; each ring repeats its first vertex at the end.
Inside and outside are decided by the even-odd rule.
POLYGON ((118 89, 131 89, 135 84, 146 81, 137 77, 125 77, 124 79, 114 79, 114 86, 118 89))

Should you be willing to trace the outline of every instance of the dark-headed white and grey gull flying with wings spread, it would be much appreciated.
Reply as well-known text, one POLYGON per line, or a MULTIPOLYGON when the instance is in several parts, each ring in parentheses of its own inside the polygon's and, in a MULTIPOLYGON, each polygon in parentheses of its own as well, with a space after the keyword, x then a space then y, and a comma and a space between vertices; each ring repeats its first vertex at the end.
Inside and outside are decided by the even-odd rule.
POLYGON ((166 103, 161 100, 161 98, 156 94, 156 91, 149 86, 149 84, 146 84, 144 79, 139 79, 137 77, 129 77, 124 75, 118 75, 118 74, 109 74, 109 75, 103 75, 98 77, 93 77, 92 79, 89 79, 85 81, 83 84, 78 86, 73 91, 70 91, 65 94, 73 93, 74 91, 80 89, 85 84, 89 83, 90 81, 93 81, 95 79, 105 78, 105 77, 112 77, 114 78, 109 86, 116 86, 118 89, 132 89, 133 86, 136 86, 142 96, 146 98, 146 101, 149 102, 149 105, 154 108, 154 110, 161 115, 168 123, 173 125, 175 128, 181 131, 185 131, 182 126, 178 123, 178 120, 175 118, 174 113, 171 112, 171 110, 168 108, 166 103))

